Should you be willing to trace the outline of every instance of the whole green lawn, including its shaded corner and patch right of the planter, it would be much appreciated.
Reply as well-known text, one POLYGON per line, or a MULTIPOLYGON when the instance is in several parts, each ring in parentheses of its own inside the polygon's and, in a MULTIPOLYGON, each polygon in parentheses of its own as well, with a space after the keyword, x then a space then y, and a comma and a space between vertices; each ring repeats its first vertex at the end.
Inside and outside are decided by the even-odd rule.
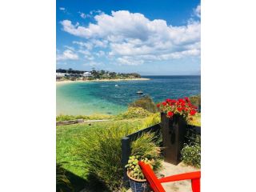
MULTIPOLYGON (((201 126, 200 120, 201 114, 196 114, 189 124, 201 126)), ((95 178, 90 178, 90 166, 86 164, 85 161, 82 161, 81 156, 78 154, 78 150, 84 145, 84 143, 82 143, 84 138, 88 138, 86 135, 93 135, 95 132, 101 132, 100 130, 113 126, 127 127, 127 129, 130 130, 134 130, 134 127, 146 128, 152 126, 152 123, 155 124, 159 121, 159 114, 151 114, 147 118, 116 119, 110 122, 93 122, 90 123, 90 125, 89 123, 80 123, 68 126, 57 126, 57 163, 62 164, 62 168, 66 171, 67 178, 70 179, 71 185, 74 186, 74 191, 80 191, 86 186, 92 191, 107 191, 102 190, 104 189, 102 182, 99 182, 95 178), (94 182, 91 182, 92 180, 94 182)))

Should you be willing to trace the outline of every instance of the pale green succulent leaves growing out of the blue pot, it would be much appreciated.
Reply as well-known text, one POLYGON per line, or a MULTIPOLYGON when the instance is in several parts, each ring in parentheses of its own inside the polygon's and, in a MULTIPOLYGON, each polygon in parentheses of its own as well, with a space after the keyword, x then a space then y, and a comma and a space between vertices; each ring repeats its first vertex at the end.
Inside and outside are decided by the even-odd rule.
POLYGON ((151 167, 151 169, 153 169, 154 159, 149 160, 148 158, 140 158, 139 156, 134 156, 134 155, 130 156, 128 160, 128 164, 126 165, 126 168, 130 174, 130 177, 142 180, 145 178, 144 178, 144 174, 142 174, 142 170, 140 166, 138 165, 138 161, 145 162, 151 167))

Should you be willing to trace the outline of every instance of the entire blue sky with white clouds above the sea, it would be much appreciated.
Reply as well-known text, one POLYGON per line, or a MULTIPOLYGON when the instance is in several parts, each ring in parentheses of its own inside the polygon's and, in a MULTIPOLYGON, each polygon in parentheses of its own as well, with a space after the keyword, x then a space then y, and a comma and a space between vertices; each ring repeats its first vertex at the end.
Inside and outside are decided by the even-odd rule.
POLYGON ((200 74, 194 0, 57 0, 56 68, 200 74))

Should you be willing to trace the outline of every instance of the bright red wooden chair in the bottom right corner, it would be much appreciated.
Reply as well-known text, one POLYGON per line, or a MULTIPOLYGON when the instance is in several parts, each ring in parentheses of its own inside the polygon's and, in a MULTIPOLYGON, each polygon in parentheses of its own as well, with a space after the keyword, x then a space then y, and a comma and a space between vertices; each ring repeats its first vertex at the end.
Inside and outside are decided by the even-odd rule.
POLYGON ((162 182, 176 182, 186 179, 191 179, 193 192, 200 192, 201 171, 195 171, 186 174, 176 174, 166 178, 157 178, 149 165, 144 162, 138 162, 138 165, 141 167, 146 181, 149 182, 150 188, 154 192, 165 192, 161 185, 162 182))

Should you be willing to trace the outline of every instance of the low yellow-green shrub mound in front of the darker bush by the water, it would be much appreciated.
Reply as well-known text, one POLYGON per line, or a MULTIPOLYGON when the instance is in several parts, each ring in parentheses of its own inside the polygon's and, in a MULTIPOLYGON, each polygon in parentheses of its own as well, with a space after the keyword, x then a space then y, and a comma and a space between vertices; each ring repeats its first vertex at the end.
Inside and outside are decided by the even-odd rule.
POLYGON ((129 107, 126 112, 118 114, 114 117, 115 120, 130 119, 130 118, 145 118, 150 116, 150 112, 142 109, 142 107, 129 107))

